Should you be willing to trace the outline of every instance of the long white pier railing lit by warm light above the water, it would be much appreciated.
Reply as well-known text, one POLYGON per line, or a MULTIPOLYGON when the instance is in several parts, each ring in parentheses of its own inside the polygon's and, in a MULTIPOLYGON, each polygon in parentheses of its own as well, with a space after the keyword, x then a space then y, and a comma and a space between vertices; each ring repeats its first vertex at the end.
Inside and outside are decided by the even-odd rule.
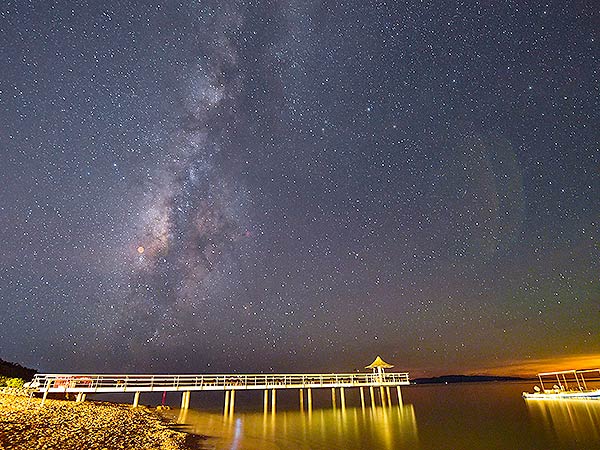
POLYGON ((409 384, 408 373, 123 375, 37 374, 29 387, 39 392, 224 391, 301 389, 409 384))

